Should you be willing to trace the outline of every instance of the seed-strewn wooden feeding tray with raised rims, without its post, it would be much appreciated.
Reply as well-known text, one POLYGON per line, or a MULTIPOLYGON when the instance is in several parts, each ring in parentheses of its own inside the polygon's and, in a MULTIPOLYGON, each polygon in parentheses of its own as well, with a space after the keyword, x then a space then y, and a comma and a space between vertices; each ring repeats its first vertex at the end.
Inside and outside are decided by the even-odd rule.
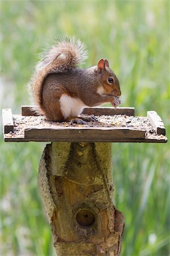
POLYGON ((97 116, 98 122, 87 125, 49 122, 37 116, 32 106, 22 106, 22 114, 2 110, 6 142, 154 142, 165 143, 165 128, 156 112, 135 117, 134 108, 85 108, 83 114, 97 116), (147 123, 147 125, 146 125, 147 123))

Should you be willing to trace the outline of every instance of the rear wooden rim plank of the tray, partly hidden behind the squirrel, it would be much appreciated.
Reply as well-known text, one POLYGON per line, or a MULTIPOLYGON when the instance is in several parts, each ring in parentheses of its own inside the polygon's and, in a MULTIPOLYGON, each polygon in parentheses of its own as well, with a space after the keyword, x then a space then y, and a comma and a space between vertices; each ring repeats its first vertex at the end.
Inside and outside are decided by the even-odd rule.
MULTIPOLYGON (((35 106, 22 106, 22 115, 37 115, 34 111, 35 106)), ((109 107, 94 107, 84 108, 82 114, 88 115, 135 115, 134 108, 109 108, 109 107)))

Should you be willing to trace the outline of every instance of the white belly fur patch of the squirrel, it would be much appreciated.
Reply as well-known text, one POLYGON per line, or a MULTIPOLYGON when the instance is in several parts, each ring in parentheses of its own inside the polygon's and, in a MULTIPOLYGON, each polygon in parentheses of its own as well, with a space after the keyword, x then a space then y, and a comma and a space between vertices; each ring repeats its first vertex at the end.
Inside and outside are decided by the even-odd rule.
POLYGON ((80 115, 85 104, 78 98, 72 98, 67 94, 63 94, 60 97, 60 106, 61 112, 66 119, 67 117, 77 117, 77 115, 80 115))

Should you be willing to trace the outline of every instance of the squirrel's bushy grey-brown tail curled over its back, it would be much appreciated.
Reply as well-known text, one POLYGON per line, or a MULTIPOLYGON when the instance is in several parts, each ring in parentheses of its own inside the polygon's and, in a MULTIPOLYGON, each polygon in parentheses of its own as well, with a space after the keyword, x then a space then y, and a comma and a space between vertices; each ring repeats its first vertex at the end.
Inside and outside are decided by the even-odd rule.
POLYGON ((36 65, 35 72, 28 84, 31 98, 38 114, 43 113, 42 89, 45 77, 50 73, 67 72, 86 59, 86 49, 83 43, 76 38, 55 40, 53 46, 48 46, 36 65))

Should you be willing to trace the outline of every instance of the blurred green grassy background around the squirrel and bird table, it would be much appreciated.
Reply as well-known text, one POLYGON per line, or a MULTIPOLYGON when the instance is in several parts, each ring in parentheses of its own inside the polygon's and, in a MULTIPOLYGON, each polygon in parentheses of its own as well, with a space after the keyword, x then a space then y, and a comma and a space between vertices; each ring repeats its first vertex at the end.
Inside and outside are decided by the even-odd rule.
MULTIPOLYGON (((27 82, 53 35, 77 35, 89 58, 109 59, 122 106, 155 110, 169 132, 169 1, 2 1, 1 108, 30 104, 27 82)), ((2 130, 2 127, 1 127, 2 130)), ((45 143, 5 143, 0 154, 0 255, 53 256, 37 189, 45 143)), ((115 205, 126 216, 123 256, 168 256, 169 143, 113 144, 115 205)))

